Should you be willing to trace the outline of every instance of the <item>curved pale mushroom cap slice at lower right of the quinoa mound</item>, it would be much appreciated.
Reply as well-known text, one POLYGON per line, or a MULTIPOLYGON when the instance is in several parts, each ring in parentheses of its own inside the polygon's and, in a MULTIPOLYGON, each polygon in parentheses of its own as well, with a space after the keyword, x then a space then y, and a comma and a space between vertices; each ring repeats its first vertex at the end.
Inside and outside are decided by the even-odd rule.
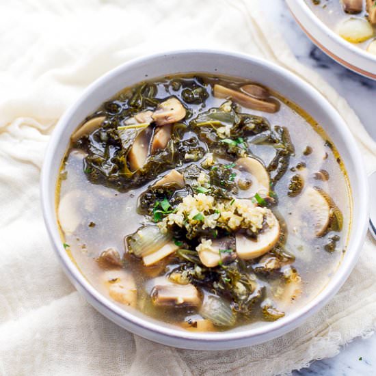
POLYGON ((252 260, 269 252, 280 239, 280 224, 271 211, 267 214, 267 226, 260 232, 255 240, 245 237, 243 234, 236 235, 237 255, 244 260, 252 260))

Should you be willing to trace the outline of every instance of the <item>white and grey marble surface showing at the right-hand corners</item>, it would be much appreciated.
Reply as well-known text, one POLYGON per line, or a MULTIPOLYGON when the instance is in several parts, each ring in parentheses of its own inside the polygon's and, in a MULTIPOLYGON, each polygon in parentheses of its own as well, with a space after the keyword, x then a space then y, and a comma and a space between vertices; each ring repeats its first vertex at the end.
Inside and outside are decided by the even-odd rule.
MULTIPOLYGON (((295 23, 284 0, 265 1, 265 12, 273 25, 288 41, 293 53, 302 64, 319 72, 358 113, 368 133, 376 139, 374 108, 376 81, 366 79, 347 70, 327 57, 310 42, 295 23)), ((355 338, 334 358, 312 362, 309 368, 293 372, 297 375, 358 376, 376 375, 376 334, 369 338, 355 338)))

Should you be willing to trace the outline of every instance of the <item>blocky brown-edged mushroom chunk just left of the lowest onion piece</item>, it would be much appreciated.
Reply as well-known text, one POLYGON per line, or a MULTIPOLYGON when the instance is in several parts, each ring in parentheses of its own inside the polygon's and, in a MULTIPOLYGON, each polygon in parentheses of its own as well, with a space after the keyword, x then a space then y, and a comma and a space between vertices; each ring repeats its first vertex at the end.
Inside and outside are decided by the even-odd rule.
POLYGON ((155 286, 151 292, 155 306, 199 306, 198 289, 193 284, 166 284, 155 286))

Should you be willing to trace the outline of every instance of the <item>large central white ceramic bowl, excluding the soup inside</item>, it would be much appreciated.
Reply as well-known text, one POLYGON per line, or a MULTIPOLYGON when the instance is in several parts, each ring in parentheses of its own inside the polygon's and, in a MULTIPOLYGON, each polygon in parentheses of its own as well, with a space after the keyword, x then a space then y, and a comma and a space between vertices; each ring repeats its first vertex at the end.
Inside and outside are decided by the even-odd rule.
POLYGON ((85 90, 81 98, 59 120, 42 170, 42 206, 49 236, 62 267, 77 290, 99 312, 131 332, 150 340, 185 349, 234 349, 263 343, 303 323, 333 297, 353 269, 364 241, 368 226, 368 191, 362 158, 355 140, 343 119, 327 100, 288 70, 261 59, 221 51, 176 51, 135 59, 111 70, 85 90), (123 310, 101 295, 86 280, 66 254, 57 228, 55 187, 59 166, 68 147, 70 134, 83 119, 101 103, 122 88, 146 77, 161 77, 172 73, 209 72, 212 74, 243 77, 263 83, 280 92, 308 111, 332 138, 349 173, 353 192, 353 219, 349 245, 343 262, 325 289, 304 308, 273 323, 250 328, 239 327, 231 332, 194 333, 178 330, 172 325, 146 317, 135 310, 123 310))

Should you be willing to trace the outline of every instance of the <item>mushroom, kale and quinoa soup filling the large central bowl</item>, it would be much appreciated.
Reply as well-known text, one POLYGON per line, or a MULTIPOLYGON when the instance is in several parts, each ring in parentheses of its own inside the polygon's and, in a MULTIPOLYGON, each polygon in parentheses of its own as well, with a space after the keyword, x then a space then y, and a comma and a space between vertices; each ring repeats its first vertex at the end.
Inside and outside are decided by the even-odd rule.
POLYGON ((57 184, 64 247, 124 309, 191 331, 304 306, 347 244, 334 144, 304 111, 233 77, 126 88, 71 136, 57 184))

